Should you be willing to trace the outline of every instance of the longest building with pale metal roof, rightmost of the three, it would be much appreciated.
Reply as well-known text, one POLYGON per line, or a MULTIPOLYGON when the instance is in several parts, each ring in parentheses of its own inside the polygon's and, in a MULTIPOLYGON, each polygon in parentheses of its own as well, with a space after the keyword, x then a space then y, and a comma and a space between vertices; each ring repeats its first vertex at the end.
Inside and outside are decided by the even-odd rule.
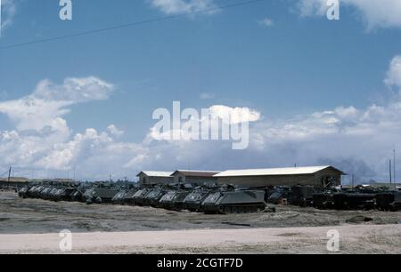
POLYGON ((228 170, 217 173, 218 184, 233 184, 246 187, 311 185, 339 186, 344 172, 332 166, 268 168, 228 170))

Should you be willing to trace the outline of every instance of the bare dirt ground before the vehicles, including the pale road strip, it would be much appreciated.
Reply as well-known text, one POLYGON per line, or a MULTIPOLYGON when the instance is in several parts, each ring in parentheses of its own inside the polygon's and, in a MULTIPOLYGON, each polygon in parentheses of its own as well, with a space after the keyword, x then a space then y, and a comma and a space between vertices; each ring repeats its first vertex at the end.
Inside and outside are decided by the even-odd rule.
POLYGON ((53 240, 60 239, 62 229, 69 229, 78 237, 74 240, 81 241, 76 252, 327 253, 326 232, 331 228, 340 230, 343 253, 401 252, 401 225, 397 224, 401 212, 276 209, 205 215, 53 203, 0 192, 0 252, 58 252, 53 240), (29 241, 37 246, 31 247, 29 241))

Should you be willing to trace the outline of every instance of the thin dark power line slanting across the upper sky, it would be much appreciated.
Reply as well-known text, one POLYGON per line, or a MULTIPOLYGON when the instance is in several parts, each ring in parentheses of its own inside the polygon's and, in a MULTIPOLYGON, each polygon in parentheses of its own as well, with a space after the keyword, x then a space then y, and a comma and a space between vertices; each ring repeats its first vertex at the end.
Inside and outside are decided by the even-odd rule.
POLYGON ((161 21, 161 20, 172 20, 172 19, 176 19, 176 18, 188 16, 188 15, 207 13, 207 12, 217 12, 217 11, 230 9, 230 8, 238 7, 238 6, 242 6, 242 5, 255 4, 258 2, 262 2, 262 1, 265 1, 265 0, 250 0, 250 1, 244 1, 244 2, 235 3, 235 4, 226 4, 226 5, 221 5, 221 6, 217 6, 214 8, 205 9, 205 10, 194 11, 194 12, 185 12, 185 13, 180 13, 180 14, 170 15, 170 16, 165 16, 165 17, 159 17, 159 18, 150 19, 150 20, 135 21, 135 22, 131 22, 131 23, 116 25, 116 26, 109 27, 109 28, 99 28, 99 29, 87 30, 87 31, 80 32, 80 33, 70 34, 70 35, 53 36, 53 37, 49 37, 49 38, 39 39, 39 40, 20 43, 20 44, 4 45, 4 46, 0 46, 0 49, 4 50, 4 49, 11 49, 11 48, 16 48, 16 47, 27 46, 27 45, 31 45, 31 44, 42 44, 42 43, 46 43, 46 42, 63 40, 63 39, 67 39, 70 37, 86 36, 86 35, 91 35, 91 34, 96 34, 96 33, 107 32, 107 31, 111 31, 111 30, 115 30, 115 29, 119 29, 119 28, 130 28, 130 27, 149 24, 149 23, 157 22, 157 21, 161 21))

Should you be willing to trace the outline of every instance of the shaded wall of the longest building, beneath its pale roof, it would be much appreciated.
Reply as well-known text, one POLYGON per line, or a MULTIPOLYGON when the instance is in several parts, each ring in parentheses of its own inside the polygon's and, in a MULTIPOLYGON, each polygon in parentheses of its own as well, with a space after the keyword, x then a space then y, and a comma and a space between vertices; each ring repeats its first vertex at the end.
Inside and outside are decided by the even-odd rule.
POLYGON ((255 177, 222 177, 218 178, 219 184, 233 184, 250 187, 265 186, 294 186, 312 185, 323 187, 323 180, 332 177, 336 185, 341 184, 340 173, 331 170, 317 172, 310 175, 281 175, 281 176, 255 176, 255 177))

